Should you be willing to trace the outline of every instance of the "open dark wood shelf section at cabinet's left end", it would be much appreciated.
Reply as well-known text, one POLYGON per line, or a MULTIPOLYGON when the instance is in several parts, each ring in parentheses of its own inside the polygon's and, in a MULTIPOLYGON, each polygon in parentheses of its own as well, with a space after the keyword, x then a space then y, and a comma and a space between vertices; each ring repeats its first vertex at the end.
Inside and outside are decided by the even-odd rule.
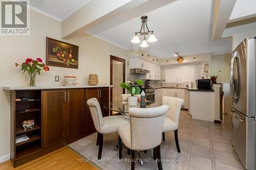
MULTIPOLYGON (((11 160, 14 167, 18 160, 24 162, 27 158, 42 150, 41 141, 41 90, 16 90, 11 92, 11 160), (16 101, 16 98, 35 99, 34 101, 16 101), (20 111, 24 110, 28 111, 20 111), (24 120, 34 119, 32 129, 24 130, 24 120), (16 143, 16 136, 26 134, 29 140, 16 143)), ((19 163, 18 163, 19 164, 19 163)))

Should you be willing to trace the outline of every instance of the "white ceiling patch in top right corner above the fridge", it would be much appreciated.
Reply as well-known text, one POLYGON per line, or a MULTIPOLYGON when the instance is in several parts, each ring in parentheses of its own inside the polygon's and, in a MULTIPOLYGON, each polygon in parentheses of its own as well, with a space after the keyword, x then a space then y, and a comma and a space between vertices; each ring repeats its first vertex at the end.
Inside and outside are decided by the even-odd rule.
POLYGON ((229 20, 256 14, 255 0, 237 0, 229 20))

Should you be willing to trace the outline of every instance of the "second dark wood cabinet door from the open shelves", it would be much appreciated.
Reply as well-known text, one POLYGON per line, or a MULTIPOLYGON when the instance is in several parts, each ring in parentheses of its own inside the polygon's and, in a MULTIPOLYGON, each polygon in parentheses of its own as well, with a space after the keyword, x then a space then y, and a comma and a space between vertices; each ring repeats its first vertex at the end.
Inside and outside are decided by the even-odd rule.
POLYGON ((84 131, 84 89, 67 89, 67 139, 84 131))

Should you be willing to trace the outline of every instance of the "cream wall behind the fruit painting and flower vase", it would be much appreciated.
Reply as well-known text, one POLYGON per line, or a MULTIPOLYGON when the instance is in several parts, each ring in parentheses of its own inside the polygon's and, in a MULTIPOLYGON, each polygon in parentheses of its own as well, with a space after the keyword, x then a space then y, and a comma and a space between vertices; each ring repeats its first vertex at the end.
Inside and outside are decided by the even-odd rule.
MULTIPOLYGON (((2 86, 27 86, 29 77, 22 74, 14 63, 22 63, 26 58, 40 57, 45 62, 46 37, 60 39, 61 23, 35 11, 30 11, 30 36, 1 36, 2 61, 0 67, 0 162, 10 158, 10 91, 2 86)), ((89 74, 98 74, 99 85, 110 83, 110 55, 124 58, 126 51, 88 34, 75 37, 67 42, 79 45, 79 69, 50 66, 50 71, 42 71, 36 79, 37 86, 58 86, 69 72, 77 76, 77 83, 87 84, 89 74)))

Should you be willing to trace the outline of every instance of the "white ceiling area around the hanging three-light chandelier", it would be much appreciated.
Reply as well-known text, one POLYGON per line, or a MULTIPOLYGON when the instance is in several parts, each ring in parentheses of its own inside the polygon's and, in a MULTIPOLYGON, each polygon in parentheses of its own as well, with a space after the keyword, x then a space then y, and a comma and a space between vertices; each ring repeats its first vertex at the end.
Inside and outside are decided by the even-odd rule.
POLYGON ((148 28, 155 32, 158 39, 155 43, 149 43, 147 48, 131 43, 134 32, 140 30, 141 15, 121 23, 112 20, 108 24, 106 21, 87 33, 127 50, 141 48, 160 59, 173 57, 176 51, 180 56, 230 53, 231 38, 212 41, 213 10, 212 0, 176 0, 144 13, 148 16, 148 28))

